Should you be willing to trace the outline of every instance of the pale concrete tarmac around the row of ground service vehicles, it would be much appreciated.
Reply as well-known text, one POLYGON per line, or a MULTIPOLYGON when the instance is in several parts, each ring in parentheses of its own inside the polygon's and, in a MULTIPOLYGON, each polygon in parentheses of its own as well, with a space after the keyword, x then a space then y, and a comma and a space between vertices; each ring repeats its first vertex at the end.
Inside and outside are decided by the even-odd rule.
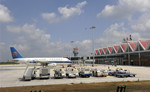
MULTIPOLYGON (((76 67, 80 67, 79 65, 76 67)), ((108 67, 115 70, 117 67, 129 70, 135 73, 135 77, 117 78, 114 76, 107 77, 90 77, 90 78, 63 78, 54 79, 54 71, 51 69, 50 79, 34 79, 31 81, 23 81, 22 77, 26 69, 26 65, 0 65, 0 88, 16 87, 16 86, 35 86, 35 85, 57 85, 57 84, 76 84, 76 83, 99 83, 99 82, 124 82, 124 81, 145 81, 150 80, 150 67, 143 66, 112 66, 112 65, 95 65, 90 68, 107 69, 108 67)))

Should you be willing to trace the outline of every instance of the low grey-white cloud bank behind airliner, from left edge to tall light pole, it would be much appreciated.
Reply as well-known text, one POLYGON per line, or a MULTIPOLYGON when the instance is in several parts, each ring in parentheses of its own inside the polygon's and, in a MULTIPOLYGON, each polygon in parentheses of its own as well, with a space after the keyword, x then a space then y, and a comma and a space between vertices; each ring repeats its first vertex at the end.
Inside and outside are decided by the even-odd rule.
MULTIPOLYGON (((90 55, 91 40, 74 41, 74 43, 51 42, 51 35, 33 24, 6 26, 7 42, 0 42, 0 58, 11 59, 9 47, 14 46, 24 57, 66 57, 73 56, 73 48, 79 48, 79 56, 90 55)), ((6 39, 4 37, 3 39, 6 39)), ((1 62, 1 61, 0 61, 1 62)))

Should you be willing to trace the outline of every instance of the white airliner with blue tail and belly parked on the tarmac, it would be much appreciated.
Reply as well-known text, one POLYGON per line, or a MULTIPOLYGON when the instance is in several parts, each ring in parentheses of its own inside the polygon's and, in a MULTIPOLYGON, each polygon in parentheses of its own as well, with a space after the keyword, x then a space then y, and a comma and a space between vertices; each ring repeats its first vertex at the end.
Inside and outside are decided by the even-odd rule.
POLYGON ((11 61, 18 63, 46 63, 56 65, 56 63, 72 63, 68 58, 50 57, 50 58, 24 58, 14 47, 10 47, 12 58, 11 61))

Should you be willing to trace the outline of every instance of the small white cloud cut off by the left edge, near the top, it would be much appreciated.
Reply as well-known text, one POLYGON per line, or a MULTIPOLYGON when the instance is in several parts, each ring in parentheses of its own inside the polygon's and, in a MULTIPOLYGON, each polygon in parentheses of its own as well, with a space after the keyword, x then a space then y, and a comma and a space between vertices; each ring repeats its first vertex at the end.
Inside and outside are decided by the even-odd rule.
POLYGON ((0 4, 0 23, 6 23, 13 21, 13 18, 10 16, 10 11, 7 7, 0 4))

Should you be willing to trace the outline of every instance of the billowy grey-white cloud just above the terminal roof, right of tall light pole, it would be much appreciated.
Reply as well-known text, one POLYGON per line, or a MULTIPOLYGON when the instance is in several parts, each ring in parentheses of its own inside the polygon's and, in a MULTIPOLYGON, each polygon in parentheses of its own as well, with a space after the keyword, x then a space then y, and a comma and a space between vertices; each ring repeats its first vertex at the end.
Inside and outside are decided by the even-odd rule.
POLYGON ((129 38, 130 34, 132 35, 133 41, 137 41, 141 38, 139 33, 132 32, 128 28, 125 28, 124 23, 112 24, 103 32, 101 38, 95 41, 95 48, 119 45, 124 38, 129 38))

